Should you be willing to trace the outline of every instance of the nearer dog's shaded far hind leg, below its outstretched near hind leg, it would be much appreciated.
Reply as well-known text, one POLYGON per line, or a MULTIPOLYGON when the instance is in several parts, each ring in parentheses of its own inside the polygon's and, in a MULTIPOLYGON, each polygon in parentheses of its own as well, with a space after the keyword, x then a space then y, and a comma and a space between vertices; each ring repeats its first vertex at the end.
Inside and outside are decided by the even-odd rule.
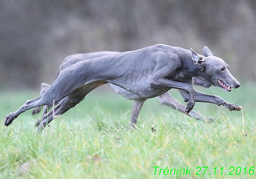
POLYGON ((67 97, 63 98, 56 107, 54 107, 49 113, 45 114, 42 121, 38 121, 37 131, 40 132, 44 127, 50 123, 54 117, 59 116, 70 108, 75 107, 80 101, 84 99, 84 97, 91 92, 93 89, 97 88, 98 86, 105 84, 104 81, 94 81, 89 84, 83 85, 82 87, 76 89, 67 97))

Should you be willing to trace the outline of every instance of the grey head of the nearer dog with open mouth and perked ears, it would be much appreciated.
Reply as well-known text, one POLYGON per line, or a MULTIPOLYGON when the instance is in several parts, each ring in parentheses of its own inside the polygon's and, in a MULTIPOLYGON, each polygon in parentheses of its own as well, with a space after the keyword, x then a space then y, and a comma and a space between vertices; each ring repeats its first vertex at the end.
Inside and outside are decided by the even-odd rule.
POLYGON ((199 79, 220 87, 225 91, 240 87, 240 83, 229 72, 229 65, 219 57, 215 57, 207 46, 203 49, 203 56, 196 54, 191 48, 192 60, 200 69, 199 79))

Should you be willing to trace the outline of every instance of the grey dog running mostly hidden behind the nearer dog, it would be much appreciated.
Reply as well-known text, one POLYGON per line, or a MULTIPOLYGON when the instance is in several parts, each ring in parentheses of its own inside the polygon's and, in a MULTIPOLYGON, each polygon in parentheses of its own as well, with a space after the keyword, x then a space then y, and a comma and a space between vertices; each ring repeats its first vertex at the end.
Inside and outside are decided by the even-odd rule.
MULTIPOLYGON (((58 71, 58 76, 61 71, 63 71, 70 65, 74 65, 76 62, 83 61, 83 60, 89 60, 91 58, 97 58, 97 57, 101 57, 101 56, 105 56, 105 55, 116 54, 116 53, 120 53, 120 52, 100 51, 100 52, 78 53, 78 54, 69 55, 61 63, 61 65, 59 67, 59 71, 58 71)), ((197 78, 194 78, 194 84, 200 85, 200 86, 203 86, 206 88, 211 86, 211 84, 209 84, 205 81, 199 80, 197 78)), ((130 99, 130 100, 133 100, 131 124, 136 124, 136 120, 138 118, 140 109, 141 109, 143 103, 147 99, 141 98, 138 95, 132 94, 131 92, 125 90, 124 88, 118 87, 117 85, 114 85, 112 83, 108 83, 108 85, 109 85, 109 87, 113 88, 114 91, 116 91, 121 96, 123 96, 127 99, 130 99)), ((40 89, 40 95, 42 95, 46 91, 46 89, 48 89, 49 87, 50 87, 49 84, 42 83, 41 89, 40 89)), ((174 99, 172 96, 170 96, 168 92, 165 92, 164 94, 162 94, 160 96, 157 96, 157 99, 159 100, 159 102, 161 104, 164 104, 168 107, 172 107, 182 113, 185 113, 185 106, 183 104, 181 104, 180 102, 178 102, 176 99, 174 99)), ((44 116, 44 114, 47 113, 47 111, 49 110, 50 107, 52 107, 52 106, 44 106, 43 116, 44 116)), ((32 114, 37 114, 40 111, 41 111, 41 107, 35 107, 34 110, 32 111, 32 114)), ((200 114, 197 114, 193 110, 190 111, 190 113, 188 115, 191 117, 194 117, 198 120, 200 120, 200 119, 207 120, 208 119, 206 117, 202 118, 202 116, 200 114)), ((210 120, 210 119, 208 119, 208 120, 210 120)), ((39 119, 39 121, 37 122, 37 125, 39 125, 40 122, 41 122, 41 119, 39 119)), ((133 127, 133 125, 131 125, 130 127, 133 127)))

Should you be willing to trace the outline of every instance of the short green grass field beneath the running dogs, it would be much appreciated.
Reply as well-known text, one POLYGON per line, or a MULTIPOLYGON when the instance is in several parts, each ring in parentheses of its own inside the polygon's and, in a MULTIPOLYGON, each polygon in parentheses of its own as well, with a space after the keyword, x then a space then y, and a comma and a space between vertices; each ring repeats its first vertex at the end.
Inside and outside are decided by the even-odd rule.
MULTIPOLYGON (((242 83, 228 93, 216 87, 197 87, 244 108, 229 111, 214 104, 196 103, 197 112, 218 117, 212 123, 196 121, 161 105, 157 99, 149 99, 136 130, 128 130, 132 101, 97 90, 54 119, 40 135, 34 128, 40 114, 32 116, 31 110, 9 127, 3 125, 5 115, 38 93, 2 91, 0 178, 255 178, 255 88, 255 84, 242 83), (171 169, 176 173, 179 169, 177 175, 173 175, 174 170, 170 175, 171 169)), ((177 90, 170 90, 170 94, 181 101, 177 90)))

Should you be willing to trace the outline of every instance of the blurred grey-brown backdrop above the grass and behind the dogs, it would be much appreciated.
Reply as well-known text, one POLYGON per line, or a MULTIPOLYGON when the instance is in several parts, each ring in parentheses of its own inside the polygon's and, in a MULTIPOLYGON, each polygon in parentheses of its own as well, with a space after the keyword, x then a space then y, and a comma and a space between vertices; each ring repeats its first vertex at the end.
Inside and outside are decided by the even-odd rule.
POLYGON ((74 53, 206 45, 256 80, 255 0, 1 0, 0 89, 51 84, 74 53))

